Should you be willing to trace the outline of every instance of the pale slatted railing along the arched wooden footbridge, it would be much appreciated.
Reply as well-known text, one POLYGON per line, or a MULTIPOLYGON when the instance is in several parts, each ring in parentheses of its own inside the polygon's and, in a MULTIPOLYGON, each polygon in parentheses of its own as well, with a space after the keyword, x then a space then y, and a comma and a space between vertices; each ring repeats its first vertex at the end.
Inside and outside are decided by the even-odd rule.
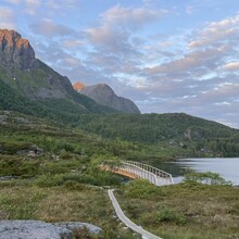
POLYGON ((139 162, 134 162, 134 161, 123 161, 122 162, 122 166, 127 171, 127 166, 133 166, 139 169, 143 169, 146 172, 151 173, 152 175, 155 175, 156 177, 166 179, 166 181, 168 184, 174 184, 174 179, 172 177, 172 175, 167 172, 161 171, 156 167, 153 167, 151 165, 148 164, 143 164, 143 163, 139 163, 139 162))

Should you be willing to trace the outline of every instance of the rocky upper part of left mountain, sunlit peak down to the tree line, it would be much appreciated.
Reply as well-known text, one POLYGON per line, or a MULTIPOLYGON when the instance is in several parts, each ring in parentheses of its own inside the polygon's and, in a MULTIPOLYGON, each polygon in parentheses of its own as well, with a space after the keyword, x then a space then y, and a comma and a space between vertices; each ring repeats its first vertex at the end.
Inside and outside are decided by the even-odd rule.
POLYGON ((32 99, 60 99, 73 91, 70 79, 36 59, 29 41, 15 30, 0 29, 0 77, 32 99))

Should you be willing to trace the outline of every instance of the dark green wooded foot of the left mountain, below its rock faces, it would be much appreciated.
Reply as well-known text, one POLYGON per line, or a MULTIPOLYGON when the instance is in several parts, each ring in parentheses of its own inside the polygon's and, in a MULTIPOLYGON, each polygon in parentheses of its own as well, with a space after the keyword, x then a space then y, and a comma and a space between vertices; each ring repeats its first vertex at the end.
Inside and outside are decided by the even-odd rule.
POLYGON ((113 109, 97 104, 93 100, 77 92, 71 98, 30 99, 17 89, 1 80, 0 75, 0 110, 11 110, 24 114, 54 120, 61 123, 74 123, 80 114, 114 112, 113 109))

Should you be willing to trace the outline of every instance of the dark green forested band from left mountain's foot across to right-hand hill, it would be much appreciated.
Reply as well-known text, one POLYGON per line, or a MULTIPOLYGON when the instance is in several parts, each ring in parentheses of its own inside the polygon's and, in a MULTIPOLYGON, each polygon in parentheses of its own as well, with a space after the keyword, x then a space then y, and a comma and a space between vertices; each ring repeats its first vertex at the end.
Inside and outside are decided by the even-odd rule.
POLYGON ((166 158, 239 155, 237 129, 184 113, 113 114, 74 91, 71 98, 29 99, 0 80, 0 110, 54 120, 108 139, 152 144, 166 158))

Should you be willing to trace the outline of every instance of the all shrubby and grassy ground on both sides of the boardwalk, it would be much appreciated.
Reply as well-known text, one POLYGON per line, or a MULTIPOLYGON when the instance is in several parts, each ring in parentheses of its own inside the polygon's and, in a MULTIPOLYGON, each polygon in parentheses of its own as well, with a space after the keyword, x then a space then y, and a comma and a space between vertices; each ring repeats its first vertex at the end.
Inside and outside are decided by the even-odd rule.
POLYGON ((105 190, 113 187, 129 218, 163 238, 237 238, 239 191, 218 175, 191 174, 185 184, 155 187, 146 180, 122 185, 120 176, 99 167, 105 161, 155 163, 184 152, 190 151, 166 141, 159 147, 105 139, 2 111, 0 176, 17 178, 0 181, 0 219, 80 221, 102 227, 99 238, 140 238, 114 217, 105 190), (213 179, 212 186, 198 179, 213 179))

